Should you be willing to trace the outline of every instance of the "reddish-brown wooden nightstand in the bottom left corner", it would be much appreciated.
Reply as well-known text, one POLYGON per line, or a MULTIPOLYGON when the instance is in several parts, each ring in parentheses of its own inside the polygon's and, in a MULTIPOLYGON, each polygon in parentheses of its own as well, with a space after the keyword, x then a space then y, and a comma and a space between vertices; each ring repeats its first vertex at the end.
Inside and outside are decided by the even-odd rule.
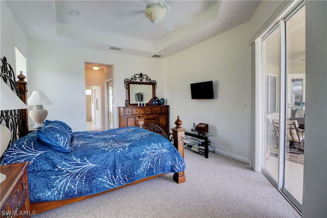
MULTIPOLYGON (((7 179, 1 183, 1 217, 30 217, 27 166, 29 162, 0 166, 7 179)), ((34 214, 35 215, 35 214, 34 214)))

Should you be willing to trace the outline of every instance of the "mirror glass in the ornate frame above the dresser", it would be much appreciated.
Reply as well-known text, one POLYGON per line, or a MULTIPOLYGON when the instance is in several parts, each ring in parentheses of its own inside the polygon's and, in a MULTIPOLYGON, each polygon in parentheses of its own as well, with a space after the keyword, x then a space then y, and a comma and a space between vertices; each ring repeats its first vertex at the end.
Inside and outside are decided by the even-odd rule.
POLYGON ((148 84, 130 84, 129 85, 129 94, 130 94, 130 104, 135 104, 137 102, 148 103, 152 98, 152 85, 148 84), (141 93, 142 99, 136 100, 135 94, 141 93))

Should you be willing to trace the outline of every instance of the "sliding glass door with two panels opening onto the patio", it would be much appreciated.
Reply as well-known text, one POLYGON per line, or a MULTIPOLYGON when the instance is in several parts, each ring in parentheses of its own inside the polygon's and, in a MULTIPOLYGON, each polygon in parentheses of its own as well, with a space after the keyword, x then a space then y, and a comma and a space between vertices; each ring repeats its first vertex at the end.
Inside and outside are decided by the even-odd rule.
POLYGON ((305 139, 305 6, 262 37, 263 172, 301 210, 305 139))

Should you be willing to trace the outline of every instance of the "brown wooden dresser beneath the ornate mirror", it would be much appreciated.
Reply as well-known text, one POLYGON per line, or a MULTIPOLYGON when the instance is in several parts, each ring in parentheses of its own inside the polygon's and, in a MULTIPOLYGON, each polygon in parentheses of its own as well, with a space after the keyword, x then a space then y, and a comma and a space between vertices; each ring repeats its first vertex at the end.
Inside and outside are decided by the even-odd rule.
POLYGON ((141 112, 145 126, 157 124, 169 134, 169 105, 118 107, 119 127, 135 126, 137 115, 141 112))

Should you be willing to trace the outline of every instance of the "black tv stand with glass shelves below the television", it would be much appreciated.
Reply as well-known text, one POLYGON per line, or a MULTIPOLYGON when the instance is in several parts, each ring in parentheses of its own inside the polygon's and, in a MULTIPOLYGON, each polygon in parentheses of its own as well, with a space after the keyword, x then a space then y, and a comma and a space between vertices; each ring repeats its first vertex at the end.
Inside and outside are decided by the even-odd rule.
POLYGON ((205 158, 208 158, 209 148, 208 148, 208 137, 212 136, 213 134, 207 132, 207 133, 199 133, 196 131, 186 130, 185 136, 191 136, 184 139, 185 148, 189 148, 191 150, 194 150, 198 152, 199 154, 204 155, 205 158), (192 149, 193 145, 195 146, 203 146, 204 150, 202 149, 192 149))

